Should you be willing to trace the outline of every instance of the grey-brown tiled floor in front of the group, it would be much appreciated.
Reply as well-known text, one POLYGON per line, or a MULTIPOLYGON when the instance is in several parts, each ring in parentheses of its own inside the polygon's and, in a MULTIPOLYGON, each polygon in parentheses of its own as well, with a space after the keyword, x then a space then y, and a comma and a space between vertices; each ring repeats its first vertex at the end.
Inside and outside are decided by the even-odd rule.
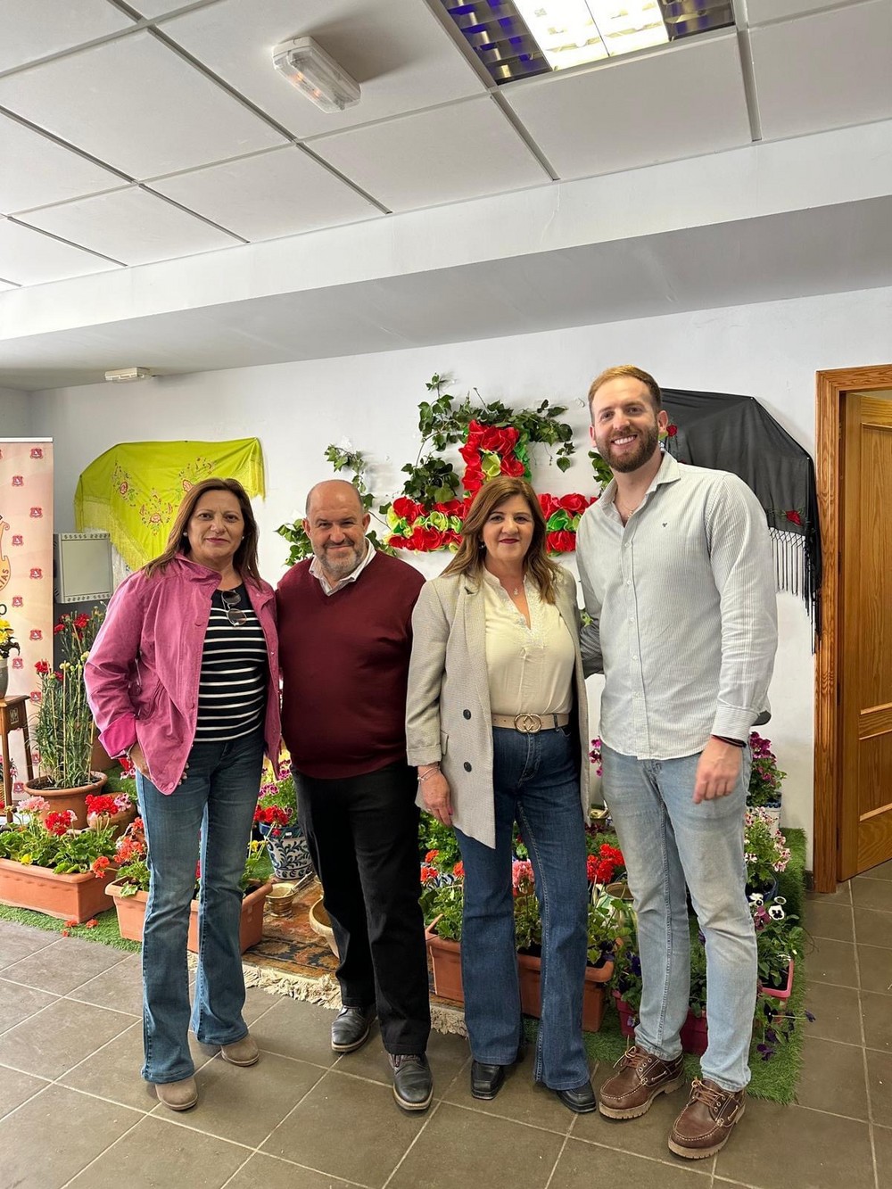
POLYGON ((457 1037, 432 1039, 432 1109, 403 1114, 377 1037, 335 1059, 329 1012, 262 990, 247 1000, 260 1063, 196 1045, 201 1102, 174 1115, 138 1075, 138 958, 0 924, 0 1189, 890 1189, 892 863, 808 910, 816 1021, 798 1103, 750 1101, 728 1147, 696 1164, 666 1147, 681 1094, 632 1122, 577 1118, 527 1061, 475 1102, 457 1037))

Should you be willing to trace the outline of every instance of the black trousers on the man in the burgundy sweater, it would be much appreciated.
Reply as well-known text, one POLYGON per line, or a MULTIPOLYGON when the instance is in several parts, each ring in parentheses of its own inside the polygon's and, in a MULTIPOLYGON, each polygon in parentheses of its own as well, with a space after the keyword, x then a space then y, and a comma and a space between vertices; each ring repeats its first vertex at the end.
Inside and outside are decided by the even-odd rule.
POLYGON ((431 1002, 415 769, 394 763, 343 780, 295 780, 338 942, 341 1002, 376 1005, 388 1052, 425 1052, 431 1002))

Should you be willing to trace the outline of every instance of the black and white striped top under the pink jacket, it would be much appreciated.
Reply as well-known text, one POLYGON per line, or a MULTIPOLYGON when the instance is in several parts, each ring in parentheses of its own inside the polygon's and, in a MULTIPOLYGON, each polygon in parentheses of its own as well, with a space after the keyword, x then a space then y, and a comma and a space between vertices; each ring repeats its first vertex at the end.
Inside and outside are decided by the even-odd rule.
POLYGON ((226 591, 234 627, 224 606, 222 592, 214 591, 211 619, 201 654, 196 743, 225 743, 257 730, 266 709, 269 663, 260 622, 243 586, 226 591), (235 603, 238 596, 238 603, 235 603))

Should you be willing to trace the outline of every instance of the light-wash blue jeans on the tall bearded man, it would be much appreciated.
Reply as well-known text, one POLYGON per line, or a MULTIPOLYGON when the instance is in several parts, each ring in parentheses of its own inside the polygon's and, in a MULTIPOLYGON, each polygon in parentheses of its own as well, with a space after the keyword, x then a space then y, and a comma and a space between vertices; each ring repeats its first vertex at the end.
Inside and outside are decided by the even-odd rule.
POLYGON ((734 792, 699 805, 691 800, 699 754, 637 760, 602 747, 602 756, 604 798, 637 911, 643 989, 635 1043, 664 1061, 681 1051, 691 975, 686 883, 706 939, 703 1076, 725 1090, 743 1089, 758 976, 743 858, 749 748, 734 792))

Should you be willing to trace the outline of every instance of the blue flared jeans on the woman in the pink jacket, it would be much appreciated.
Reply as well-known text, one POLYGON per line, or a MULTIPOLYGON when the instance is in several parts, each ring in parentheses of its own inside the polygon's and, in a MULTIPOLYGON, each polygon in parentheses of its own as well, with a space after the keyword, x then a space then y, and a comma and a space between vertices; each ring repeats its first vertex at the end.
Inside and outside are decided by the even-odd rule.
POLYGON ((199 973, 191 1027, 202 1044, 241 1040, 245 979, 239 924, 247 843, 260 787, 263 730, 231 743, 195 743, 170 795, 137 774, 151 886, 143 929, 143 1077, 191 1077, 187 937, 201 856, 199 973), (200 843, 199 843, 200 837, 200 843))

